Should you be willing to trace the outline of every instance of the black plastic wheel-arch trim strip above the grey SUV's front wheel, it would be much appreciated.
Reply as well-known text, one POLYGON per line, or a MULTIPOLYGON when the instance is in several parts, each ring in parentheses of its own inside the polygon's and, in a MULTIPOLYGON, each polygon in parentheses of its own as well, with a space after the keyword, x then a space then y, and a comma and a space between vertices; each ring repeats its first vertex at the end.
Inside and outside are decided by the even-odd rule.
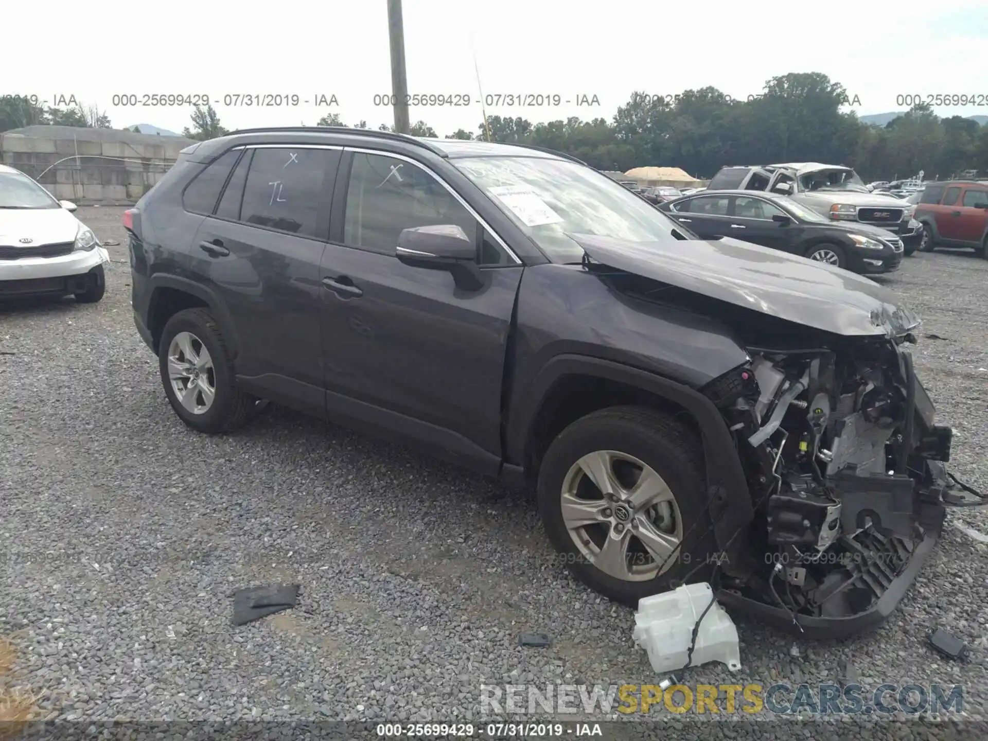
POLYGON ((563 375, 581 374, 626 383, 654 393, 682 406, 697 422, 703 441, 706 467, 707 509, 713 522, 717 544, 727 552, 725 568, 740 563, 734 553, 742 552, 745 536, 739 535, 755 516, 748 481, 741 460, 734 452, 734 440, 724 418, 708 398, 689 386, 648 371, 640 371, 613 361, 581 355, 558 355, 535 375, 526 392, 519 395, 508 423, 508 459, 525 461, 529 430, 542 400, 552 384, 563 375))

